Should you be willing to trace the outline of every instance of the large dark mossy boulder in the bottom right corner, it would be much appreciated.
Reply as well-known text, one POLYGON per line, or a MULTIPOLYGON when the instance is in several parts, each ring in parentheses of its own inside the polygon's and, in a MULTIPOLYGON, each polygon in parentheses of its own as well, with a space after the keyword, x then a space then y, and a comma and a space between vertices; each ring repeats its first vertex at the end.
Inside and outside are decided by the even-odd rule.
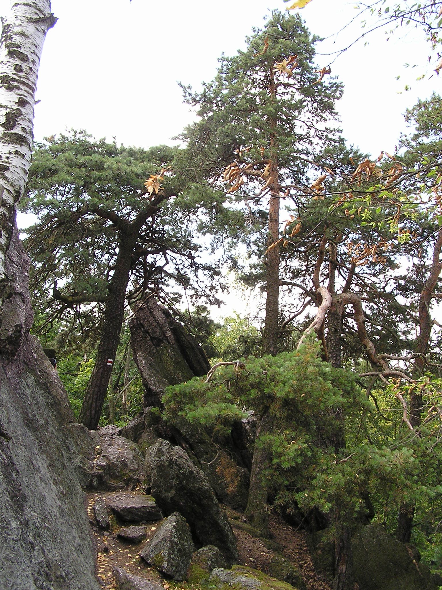
POLYGON ((437 590, 425 564, 412 559, 403 543, 381 525, 363 526, 352 538, 359 590, 437 590))

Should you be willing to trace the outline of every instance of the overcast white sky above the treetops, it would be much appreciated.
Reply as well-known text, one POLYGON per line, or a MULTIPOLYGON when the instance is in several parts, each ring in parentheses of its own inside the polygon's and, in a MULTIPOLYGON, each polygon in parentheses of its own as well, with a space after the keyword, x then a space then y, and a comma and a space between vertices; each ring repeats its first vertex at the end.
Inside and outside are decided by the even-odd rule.
MULTIPOLYGON (((53 0, 59 20, 42 56, 36 139, 82 128, 124 145, 170 143, 192 121, 177 80, 198 87, 212 79, 223 52, 233 55, 245 47, 252 27, 262 26, 271 9, 286 6, 282 0, 53 0)), ((345 0, 312 0, 301 11, 322 37, 357 14, 355 3, 345 0)), ((318 52, 354 41, 363 32, 360 22, 356 18, 345 34, 319 44, 318 52)), ((415 81, 427 67, 429 48, 414 32, 385 38, 383 31, 368 35, 368 47, 359 41, 332 65, 332 74, 345 84, 338 104, 344 137, 374 155, 394 150, 405 108, 440 86, 436 74, 415 81), (419 66, 404 68, 405 63, 419 66), (398 94, 405 83, 412 90, 398 94)), ((318 55, 318 64, 332 59, 318 55)))

